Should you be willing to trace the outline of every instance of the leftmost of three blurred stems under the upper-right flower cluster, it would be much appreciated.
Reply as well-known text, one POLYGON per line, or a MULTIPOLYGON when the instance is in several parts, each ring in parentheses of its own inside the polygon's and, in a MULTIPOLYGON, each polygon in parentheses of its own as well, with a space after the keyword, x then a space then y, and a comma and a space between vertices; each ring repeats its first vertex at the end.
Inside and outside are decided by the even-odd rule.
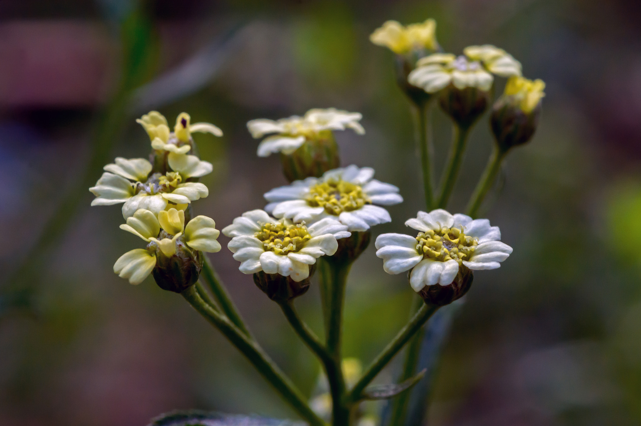
POLYGON ((414 130, 416 142, 419 145, 420 167, 423 172, 423 190, 425 193, 425 204, 430 211, 434 202, 432 190, 432 105, 433 102, 412 104, 414 116, 414 130))

